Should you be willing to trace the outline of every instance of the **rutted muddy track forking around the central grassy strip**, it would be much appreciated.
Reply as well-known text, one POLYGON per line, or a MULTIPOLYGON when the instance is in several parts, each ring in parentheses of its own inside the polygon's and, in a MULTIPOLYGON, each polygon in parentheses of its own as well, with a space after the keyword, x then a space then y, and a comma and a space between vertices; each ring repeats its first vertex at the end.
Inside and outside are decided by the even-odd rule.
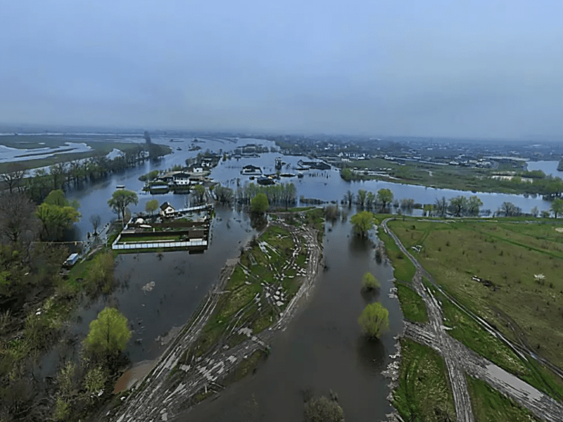
MULTIPOLYGON (((317 233, 310 228, 297 228, 276 223, 291 233, 296 248, 305 245, 307 267, 303 282, 295 296, 289 302, 274 326, 261 333, 251 335, 228 350, 211 353, 201 357, 193 366, 179 364, 182 354, 196 341, 205 323, 213 315, 218 298, 224 290, 229 277, 238 263, 229 260, 222 269, 217 286, 203 301, 196 316, 182 329, 177 338, 164 352, 149 377, 137 391, 133 392, 116 411, 106 414, 106 420, 112 422, 149 422, 171 421, 172 418, 190 406, 190 399, 201 390, 219 391, 223 388, 220 380, 236 368, 253 352, 265 350, 277 330, 284 329, 298 307, 298 302, 308 295, 315 282, 320 264, 320 245, 317 233), (178 375, 180 374, 180 375, 178 375), (178 382, 179 380, 179 382, 178 382)), ((293 258, 296 256, 294 254, 293 258)))

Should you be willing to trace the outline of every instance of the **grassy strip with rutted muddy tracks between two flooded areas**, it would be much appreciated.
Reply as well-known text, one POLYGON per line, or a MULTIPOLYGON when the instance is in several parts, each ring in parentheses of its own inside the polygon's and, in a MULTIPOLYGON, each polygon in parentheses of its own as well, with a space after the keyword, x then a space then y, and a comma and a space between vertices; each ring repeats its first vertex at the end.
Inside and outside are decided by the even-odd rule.
POLYGON ((237 367, 239 376, 248 373, 244 362, 251 358, 257 364, 255 352, 270 350, 274 333, 286 326, 312 288, 319 260, 314 229, 270 222, 238 259, 227 262, 201 311, 110 419, 172 418, 222 390, 224 378, 237 367))

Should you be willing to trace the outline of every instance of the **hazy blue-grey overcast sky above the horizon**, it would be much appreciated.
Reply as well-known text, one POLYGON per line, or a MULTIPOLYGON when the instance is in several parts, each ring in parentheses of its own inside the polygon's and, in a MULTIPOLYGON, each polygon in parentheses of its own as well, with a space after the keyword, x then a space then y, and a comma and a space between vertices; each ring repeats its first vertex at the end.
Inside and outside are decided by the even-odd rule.
POLYGON ((0 122, 563 135, 563 1, 2 1, 0 122))

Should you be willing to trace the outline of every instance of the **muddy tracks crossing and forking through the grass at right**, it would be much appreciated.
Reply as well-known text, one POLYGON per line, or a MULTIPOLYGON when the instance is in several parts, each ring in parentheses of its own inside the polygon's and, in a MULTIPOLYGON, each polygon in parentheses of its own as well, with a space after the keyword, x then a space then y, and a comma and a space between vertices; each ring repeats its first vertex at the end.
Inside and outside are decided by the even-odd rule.
MULTIPOLYGON (((428 274, 415 257, 410 254, 393 231, 388 229, 387 222, 389 220, 390 219, 385 219, 384 222, 382 222, 382 226, 386 233, 393 238, 400 250, 415 264, 417 271, 415 277, 412 279, 412 284, 426 303, 429 317, 429 324, 417 324, 405 321, 405 336, 433 348, 443 356, 452 385, 457 421, 474 421, 472 404, 469 399, 469 393, 467 392, 467 383, 464 375, 464 373, 468 373, 475 378, 485 381, 508 397, 511 397, 522 407, 529 409, 538 418, 549 422, 562 422, 563 406, 561 404, 548 395, 545 395, 543 392, 533 388, 528 383, 521 381, 521 379, 516 376, 507 373, 504 369, 501 369, 499 366, 479 356, 472 350, 469 350, 448 335, 442 324, 443 315, 438 300, 434 298, 431 290, 424 288, 422 284, 422 276, 426 276, 432 281, 431 275, 428 274)), ((492 329, 490 327, 485 328, 492 329)), ((498 336, 500 336, 500 333, 498 333, 498 336)))

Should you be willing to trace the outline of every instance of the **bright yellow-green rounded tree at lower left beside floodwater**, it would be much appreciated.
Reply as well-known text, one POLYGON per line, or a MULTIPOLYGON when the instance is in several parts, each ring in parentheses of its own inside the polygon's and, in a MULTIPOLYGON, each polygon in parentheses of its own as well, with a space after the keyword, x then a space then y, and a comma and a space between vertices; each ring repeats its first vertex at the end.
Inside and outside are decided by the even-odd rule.
POLYGON ((94 354, 110 357, 125 350, 129 338, 127 318, 118 309, 106 307, 91 321, 84 347, 94 354))

